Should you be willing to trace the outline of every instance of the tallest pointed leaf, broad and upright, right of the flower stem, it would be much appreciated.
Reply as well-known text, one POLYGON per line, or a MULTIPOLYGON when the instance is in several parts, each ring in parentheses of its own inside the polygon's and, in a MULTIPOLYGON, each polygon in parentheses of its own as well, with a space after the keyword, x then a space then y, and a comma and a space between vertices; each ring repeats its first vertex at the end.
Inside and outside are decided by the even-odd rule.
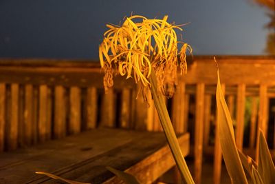
POLYGON ((241 159, 239 157, 238 150, 236 148, 230 112, 228 110, 228 106, 225 103, 223 92, 221 90, 219 70, 217 70, 217 76, 217 127, 225 166, 228 170, 228 174, 232 180, 232 183, 248 183, 248 180, 245 177, 243 166, 241 165, 241 159))

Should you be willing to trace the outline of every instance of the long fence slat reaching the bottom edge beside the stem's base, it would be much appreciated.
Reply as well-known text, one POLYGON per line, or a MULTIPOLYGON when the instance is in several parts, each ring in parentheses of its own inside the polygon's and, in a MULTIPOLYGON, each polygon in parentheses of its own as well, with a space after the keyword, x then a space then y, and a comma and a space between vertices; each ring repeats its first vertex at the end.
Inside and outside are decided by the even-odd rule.
POLYGON ((197 84, 195 114, 195 183, 201 183, 201 166, 203 152, 203 108, 204 83, 197 84))

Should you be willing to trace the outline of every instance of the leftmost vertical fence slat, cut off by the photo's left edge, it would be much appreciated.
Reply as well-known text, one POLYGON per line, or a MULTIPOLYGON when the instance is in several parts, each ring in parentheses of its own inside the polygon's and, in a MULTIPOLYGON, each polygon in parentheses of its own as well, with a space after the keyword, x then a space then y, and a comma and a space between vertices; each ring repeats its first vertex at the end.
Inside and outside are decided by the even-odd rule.
POLYGON ((0 152, 5 144, 5 83, 0 83, 0 152))

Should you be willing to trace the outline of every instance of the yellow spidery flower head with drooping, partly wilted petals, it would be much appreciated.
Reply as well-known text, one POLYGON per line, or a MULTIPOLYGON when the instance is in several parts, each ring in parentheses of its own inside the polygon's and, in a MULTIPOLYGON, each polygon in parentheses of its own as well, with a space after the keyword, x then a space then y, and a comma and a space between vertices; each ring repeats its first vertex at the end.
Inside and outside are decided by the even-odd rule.
POLYGON ((139 15, 124 19, 122 26, 107 24, 107 32, 99 47, 100 65, 105 72, 104 88, 113 86, 113 73, 118 71, 142 88, 151 86, 149 77, 155 70, 158 90, 172 96, 177 85, 177 66, 186 73, 186 50, 192 53, 187 43, 177 41, 175 29, 180 25, 163 19, 146 19, 139 15), (178 50, 177 45, 181 45, 178 50))

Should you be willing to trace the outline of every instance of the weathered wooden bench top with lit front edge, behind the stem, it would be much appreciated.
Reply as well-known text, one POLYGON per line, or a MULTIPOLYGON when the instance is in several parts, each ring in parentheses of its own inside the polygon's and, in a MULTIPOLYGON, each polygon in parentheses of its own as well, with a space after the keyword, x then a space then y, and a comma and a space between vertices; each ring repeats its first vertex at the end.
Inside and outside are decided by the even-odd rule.
MULTIPOLYGON (((178 140, 186 156, 188 134, 178 140)), ((105 168, 111 166, 134 174, 142 183, 151 183, 173 165, 162 133, 97 129, 0 154, 0 182, 57 183, 34 174, 43 171, 76 181, 102 183, 113 176, 105 168)), ((112 178, 108 183, 116 181, 118 178, 112 178)))

